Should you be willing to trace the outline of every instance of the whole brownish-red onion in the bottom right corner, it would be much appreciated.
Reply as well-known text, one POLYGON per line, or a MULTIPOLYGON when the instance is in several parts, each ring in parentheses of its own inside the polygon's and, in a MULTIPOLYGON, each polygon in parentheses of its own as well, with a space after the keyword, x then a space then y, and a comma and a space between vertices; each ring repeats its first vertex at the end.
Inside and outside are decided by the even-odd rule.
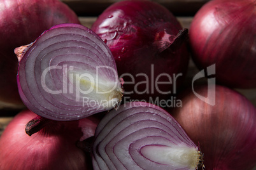
POLYGON ((174 118, 200 144, 206 169, 252 169, 256 165, 256 109, 244 96, 223 86, 201 86, 182 98, 174 118), (209 101, 215 96, 214 106, 209 101))

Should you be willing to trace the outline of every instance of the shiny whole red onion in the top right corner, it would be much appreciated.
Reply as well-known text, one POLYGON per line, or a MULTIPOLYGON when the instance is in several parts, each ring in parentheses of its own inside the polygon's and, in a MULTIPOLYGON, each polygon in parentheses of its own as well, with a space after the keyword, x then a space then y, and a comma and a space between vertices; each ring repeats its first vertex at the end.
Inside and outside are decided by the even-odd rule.
POLYGON ((256 2, 215 0, 192 20, 190 45, 199 69, 216 64, 216 79, 232 88, 256 88, 256 2))

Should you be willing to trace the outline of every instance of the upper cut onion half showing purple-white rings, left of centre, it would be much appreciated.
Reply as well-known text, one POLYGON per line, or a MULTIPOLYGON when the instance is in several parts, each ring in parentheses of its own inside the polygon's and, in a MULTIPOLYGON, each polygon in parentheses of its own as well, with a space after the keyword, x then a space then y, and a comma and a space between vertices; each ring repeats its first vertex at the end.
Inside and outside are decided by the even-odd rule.
POLYGON ((115 60, 92 30, 80 24, 52 27, 15 49, 24 104, 47 119, 71 121, 116 107, 122 99, 115 60))

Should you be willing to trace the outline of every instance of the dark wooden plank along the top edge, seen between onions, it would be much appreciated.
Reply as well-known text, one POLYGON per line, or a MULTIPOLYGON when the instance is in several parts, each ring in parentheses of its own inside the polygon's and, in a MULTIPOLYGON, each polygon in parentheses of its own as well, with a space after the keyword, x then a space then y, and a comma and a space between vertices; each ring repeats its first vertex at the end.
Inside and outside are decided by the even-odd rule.
MULTIPOLYGON (((61 0, 79 16, 97 16, 108 6, 121 0, 61 0)), ((210 0, 152 0, 162 4, 174 15, 193 16, 205 3, 210 0)))

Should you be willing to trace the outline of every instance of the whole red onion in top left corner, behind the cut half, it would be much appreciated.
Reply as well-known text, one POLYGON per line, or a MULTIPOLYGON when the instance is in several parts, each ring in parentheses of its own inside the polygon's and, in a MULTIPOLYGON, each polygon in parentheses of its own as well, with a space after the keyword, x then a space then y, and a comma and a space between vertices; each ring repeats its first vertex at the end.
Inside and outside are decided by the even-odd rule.
POLYGON ((0 6, 0 101, 21 105, 16 80, 18 60, 13 50, 31 43, 53 25, 80 22, 59 0, 3 0, 0 6))

